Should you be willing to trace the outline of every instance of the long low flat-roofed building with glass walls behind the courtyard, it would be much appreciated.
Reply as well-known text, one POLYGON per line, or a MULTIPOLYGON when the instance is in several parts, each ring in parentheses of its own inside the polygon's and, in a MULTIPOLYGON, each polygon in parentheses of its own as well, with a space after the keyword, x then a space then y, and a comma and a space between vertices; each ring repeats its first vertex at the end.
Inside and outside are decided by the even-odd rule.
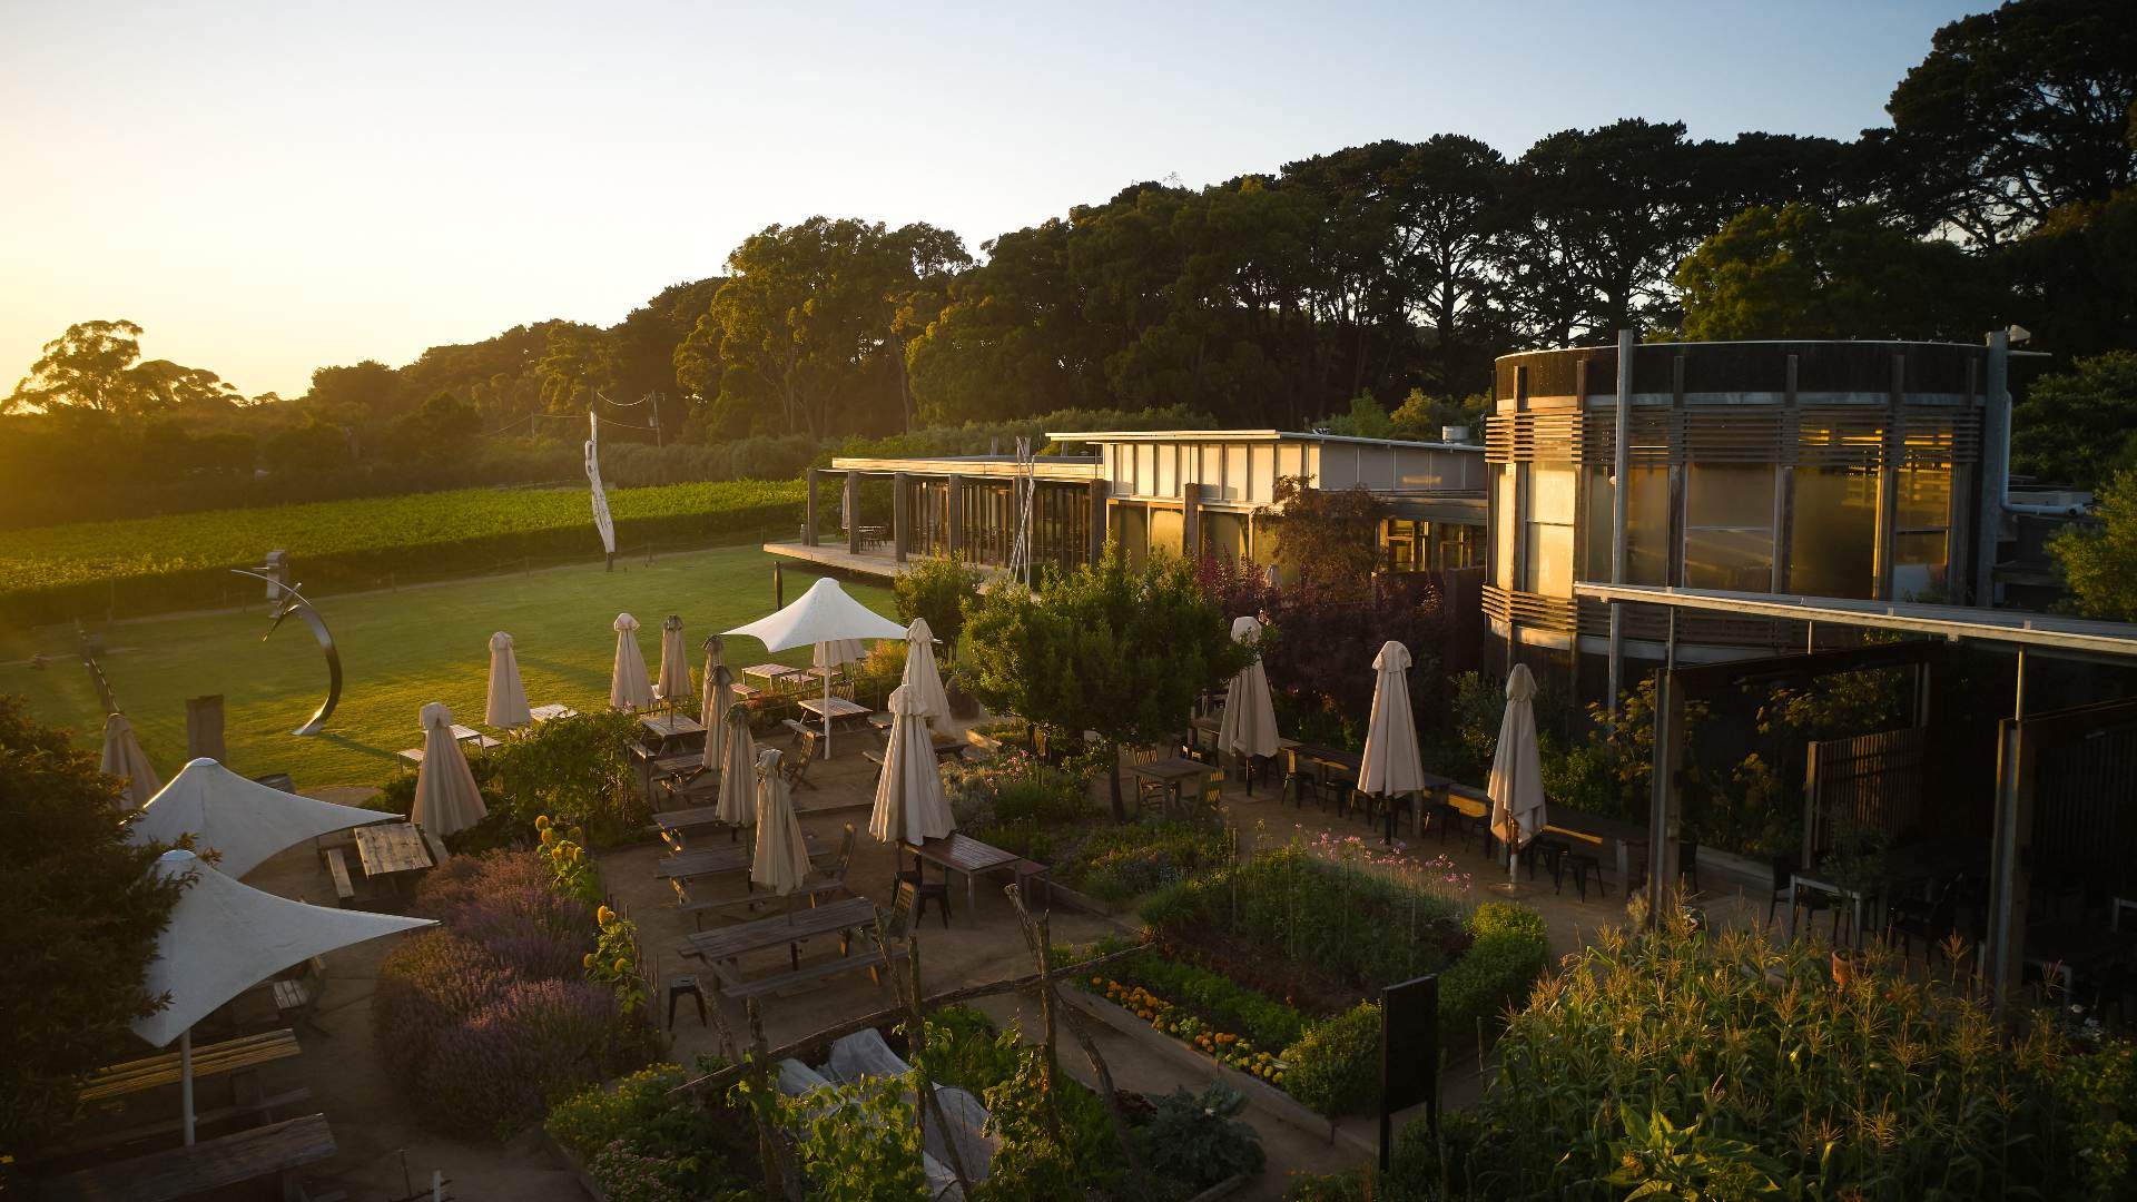
POLYGON ((891 575, 915 556, 1009 565, 1017 490, 1030 483, 1034 565, 1090 560, 1118 539, 1154 550, 1269 563, 1276 481, 1366 488, 1391 511, 1381 545, 1391 571, 1468 567, 1485 545, 1485 453, 1464 443, 1404 443, 1280 430, 1049 432, 1073 453, 831 460, 808 477, 801 537, 765 550, 844 571, 891 575), (816 530, 825 477, 842 483, 842 545, 816 530), (885 488, 887 486, 887 488, 885 488))

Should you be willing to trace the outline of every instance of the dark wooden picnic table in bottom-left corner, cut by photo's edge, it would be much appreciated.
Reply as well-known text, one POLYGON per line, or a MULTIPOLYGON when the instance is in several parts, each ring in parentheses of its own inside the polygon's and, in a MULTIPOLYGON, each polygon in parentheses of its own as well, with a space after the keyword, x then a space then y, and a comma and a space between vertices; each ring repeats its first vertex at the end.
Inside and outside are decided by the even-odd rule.
POLYGON ((333 1131, 327 1127, 327 1116, 306 1114, 235 1136, 218 1136, 199 1144, 51 1176, 41 1183, 38 1198, 169 1202, 231 1189, 263 1176, 280 1176, 329 1159, 333 1153, 333 1131))

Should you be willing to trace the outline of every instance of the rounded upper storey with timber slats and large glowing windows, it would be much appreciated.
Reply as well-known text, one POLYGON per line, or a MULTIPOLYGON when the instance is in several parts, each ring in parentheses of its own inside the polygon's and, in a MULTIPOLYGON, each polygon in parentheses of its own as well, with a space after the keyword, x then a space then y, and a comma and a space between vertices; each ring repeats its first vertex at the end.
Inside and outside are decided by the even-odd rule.
MULTIPOLYGON (((2000 340, 1622 346, 1624 370, 1620 346, 1498 359, 1485 616, 1509 650, 1609 654, 1611 605, 1575 582, 1996 601, 1983 567, 2007 518, 2000 340)), ((1620 620, 1622 654, 1665 657, 1665 612, 1620 620)), ((1682 612, 1673 635, 1688 661, 1806 639, 1799 622, 1727 612, 1682 612)))

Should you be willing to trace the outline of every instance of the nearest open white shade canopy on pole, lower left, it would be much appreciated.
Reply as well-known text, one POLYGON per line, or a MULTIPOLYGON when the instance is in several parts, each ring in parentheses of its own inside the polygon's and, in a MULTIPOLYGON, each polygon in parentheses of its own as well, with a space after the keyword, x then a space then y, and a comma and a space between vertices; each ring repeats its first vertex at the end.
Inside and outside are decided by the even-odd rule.
MULTIPOLYGON (((201 764, 201 761, 194 761, 201 764)), ((212 764, 212 761, 209 761, 212 764)), ((188 766, 190 768, 190 766, 188 766)), ((254 890, 201 862, 192 851, 165 851, 152 873, 192 877, 171 907, 171 924, 156 937, 156 958, 143 982, 150 997, 171 1003, 137 1018, 132 1029, 156 1048, 177 1039, 180 1106, 186 1142, 192 1142, 192 1024, 216 1007, 312 956, 419 926, 427 918, 400 918, 361 909, 327 909, 254 890)))

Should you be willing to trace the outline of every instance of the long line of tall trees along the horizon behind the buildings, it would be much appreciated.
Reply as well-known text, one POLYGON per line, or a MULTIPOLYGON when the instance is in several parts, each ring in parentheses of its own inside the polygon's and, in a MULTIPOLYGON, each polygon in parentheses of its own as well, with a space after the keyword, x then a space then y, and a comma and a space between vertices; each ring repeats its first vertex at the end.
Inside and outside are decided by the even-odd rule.
POLYGON ((66 471, 21 479, 73 498, 11 490, 0 522, 575 477, 590 409, 609 447, 690 447, 654 451, 658 479, 722 479, 1068 409, 1430 432, 1477 413, 1464 398, 1496 355, 1626 325, 1975 340, 2017 323, 2062 361, 2137 344, 2137 21, 2103 0, 1953 21, 1887 111, 1853 141, 1645 120, 1513 158, 1462 135, 1378 141, 1207 188, 1130 184, 985 242, 985 261, 925 222, 816 216, 613 327, 329 366, 295 400, 141 364, 139 327, 81 323, 0 421, 0 468, 58 453, 66 471))

